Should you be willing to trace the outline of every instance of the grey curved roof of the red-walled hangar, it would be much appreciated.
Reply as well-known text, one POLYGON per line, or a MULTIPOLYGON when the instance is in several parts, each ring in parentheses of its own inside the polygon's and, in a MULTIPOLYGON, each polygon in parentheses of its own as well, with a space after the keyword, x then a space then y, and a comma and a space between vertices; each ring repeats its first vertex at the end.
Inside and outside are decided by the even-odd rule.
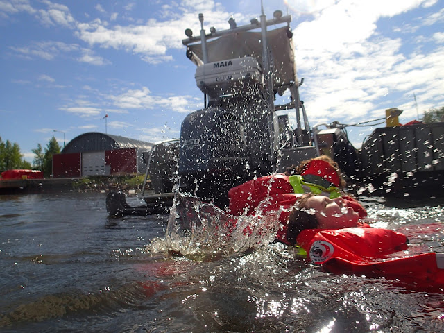
POLYGON ((110 135, 99 132, 89 132, 74 137, 63 148, 62 153, 86 153, 90 151, 110 151, 112 149, 139 148, 151 151, 153 144, 120 135, 110 135))

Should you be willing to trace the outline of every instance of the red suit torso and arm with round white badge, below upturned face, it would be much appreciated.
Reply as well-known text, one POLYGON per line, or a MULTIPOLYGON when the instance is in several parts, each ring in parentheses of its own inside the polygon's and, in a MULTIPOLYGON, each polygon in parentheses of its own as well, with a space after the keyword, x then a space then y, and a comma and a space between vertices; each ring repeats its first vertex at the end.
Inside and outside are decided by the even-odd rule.
POLYGON ((330 273, 400 279, 420 287, 444 285, 444 253, 411 255, 408 239, 400 232, 379 228, 311 229, 302 230, 297 243, 307 259, 330 273))

